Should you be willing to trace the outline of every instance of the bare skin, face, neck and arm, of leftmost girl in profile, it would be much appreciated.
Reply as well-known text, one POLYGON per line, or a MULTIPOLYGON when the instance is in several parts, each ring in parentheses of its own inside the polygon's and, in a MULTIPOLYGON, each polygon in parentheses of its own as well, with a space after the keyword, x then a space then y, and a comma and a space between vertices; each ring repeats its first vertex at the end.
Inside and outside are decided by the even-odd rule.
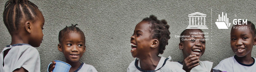
MULTIPOLYGON (((43 26, 44 26, 44 17, 42 13, 37 10, 37 19, 36 21, 31 20, 21 20, 21 26, 18 33, 11 35, 11 44, 26 43, 30 44, 33 47, 39 47, 43 40, 43 26)), ((10 49, 4 51, 4 58, 8 54, 10 49)), ((4 64, 3 64, 4 66, 4 64)), ((13 72, 28 72, 23 67, 15 69, 13 72)))

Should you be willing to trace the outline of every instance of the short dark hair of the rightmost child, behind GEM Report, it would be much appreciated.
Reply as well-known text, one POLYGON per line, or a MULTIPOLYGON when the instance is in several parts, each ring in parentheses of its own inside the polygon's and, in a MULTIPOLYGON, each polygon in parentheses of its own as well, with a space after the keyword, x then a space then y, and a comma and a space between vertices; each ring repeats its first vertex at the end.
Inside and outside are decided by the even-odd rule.
MULTIPOLYGON (((243 20, 240 20, 240 21, 243 21, 243 20)), ((238 25, 238 21, 236 22, 236 25, 233 25, 233 26, 237 26, 237 25, 238 25)), ((246 24, 244 24, 244 25, 246 25, 246 24)), ((255 25, 251 21, 247 20, 247 25, 246 26, 249 27, 249 30, 250 30, 252 36, 255 37, 256 36, 255 25)), ((233 28, 231 28, 231 30, 233 30, 233 28)))

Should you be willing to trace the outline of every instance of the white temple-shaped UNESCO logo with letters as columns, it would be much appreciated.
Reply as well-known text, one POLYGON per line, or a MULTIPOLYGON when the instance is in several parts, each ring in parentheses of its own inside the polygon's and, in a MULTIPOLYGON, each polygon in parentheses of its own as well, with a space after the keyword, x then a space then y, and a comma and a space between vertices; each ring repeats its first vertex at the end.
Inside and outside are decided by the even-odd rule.
POLYGON ((205 14, 195 12, 193 14, 189 14, 189 25, 187 29, 208 29, 205 25, 205 14))

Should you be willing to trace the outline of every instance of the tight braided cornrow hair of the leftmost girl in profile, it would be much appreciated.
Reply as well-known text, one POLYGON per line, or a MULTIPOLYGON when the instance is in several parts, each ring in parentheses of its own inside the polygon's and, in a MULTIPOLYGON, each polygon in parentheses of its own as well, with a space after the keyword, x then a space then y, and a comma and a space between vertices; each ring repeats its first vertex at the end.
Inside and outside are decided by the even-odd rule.
POLYGON ((37 17, 38 6, 28 0, 9 0, 5 4, 3 19, 10 35, 17 33, 20 22, 25 20, 34 21, 37 17))

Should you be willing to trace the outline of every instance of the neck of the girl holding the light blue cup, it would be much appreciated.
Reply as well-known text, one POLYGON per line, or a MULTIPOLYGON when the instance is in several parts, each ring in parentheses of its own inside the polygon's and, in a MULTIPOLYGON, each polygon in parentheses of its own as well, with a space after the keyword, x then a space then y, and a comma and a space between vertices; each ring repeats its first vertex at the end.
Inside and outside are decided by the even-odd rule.
POLYGON ((66 58, 66 63, 68 63, 69 65, 71 65, 71 68, 69 69, 69 72, 74 72, 75 70, 77 70, 79 68, 79 66, 81 65, 80 61, 77 62, 71 62, 66 58))

